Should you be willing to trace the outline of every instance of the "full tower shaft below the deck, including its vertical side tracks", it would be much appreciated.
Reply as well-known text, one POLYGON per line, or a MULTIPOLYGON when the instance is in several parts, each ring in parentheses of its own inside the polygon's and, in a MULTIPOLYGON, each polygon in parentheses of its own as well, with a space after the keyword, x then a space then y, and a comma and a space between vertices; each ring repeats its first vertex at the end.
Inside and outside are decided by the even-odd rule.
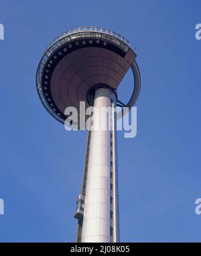
POLYGON ((83 215, 78 220, 78 242, 117 242, 117 138, 116 95, 100 88, 94 94, 94 112, 88 132, 83 215))

